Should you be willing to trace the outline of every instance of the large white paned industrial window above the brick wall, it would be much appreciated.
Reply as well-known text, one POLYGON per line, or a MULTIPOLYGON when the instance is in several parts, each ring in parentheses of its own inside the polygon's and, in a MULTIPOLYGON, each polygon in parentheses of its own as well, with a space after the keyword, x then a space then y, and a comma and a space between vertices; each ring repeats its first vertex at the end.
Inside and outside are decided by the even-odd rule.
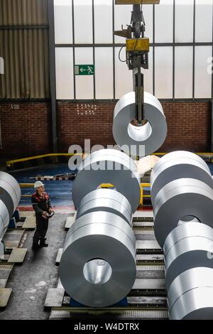
MULTIPOLYGON (((160 99, 212 99, 212 2, 143 5, 151 42, 146 91, 160 99)), ((113 33, 130 23, 131 10, 114 0, 55 0, 57 99, 114 100, 133 90, 125 39, 113 33), (91 64, 94 76, 74 75, 75 65, 91 64)))

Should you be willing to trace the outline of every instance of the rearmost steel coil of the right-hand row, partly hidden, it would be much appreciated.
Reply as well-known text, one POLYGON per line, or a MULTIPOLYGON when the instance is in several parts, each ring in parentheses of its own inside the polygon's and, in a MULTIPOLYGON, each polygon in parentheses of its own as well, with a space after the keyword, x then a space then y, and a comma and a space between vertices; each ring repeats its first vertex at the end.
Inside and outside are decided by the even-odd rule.
POLYGON ((155 163, 151 173, 151 198, 161 188, 178 178, 195 178, 213 188, 212 174, 200 156, 187 151, 168 153, 155 163))

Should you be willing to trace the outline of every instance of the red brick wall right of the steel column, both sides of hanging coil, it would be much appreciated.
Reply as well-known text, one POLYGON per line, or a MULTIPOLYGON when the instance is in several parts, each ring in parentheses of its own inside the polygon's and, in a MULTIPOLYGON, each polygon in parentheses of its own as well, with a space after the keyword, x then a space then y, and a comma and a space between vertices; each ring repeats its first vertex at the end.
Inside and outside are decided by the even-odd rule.
MULTIPOLYGON (((58 124, 60 151, 71 144, 115 144, 112 137, 114 103, 97 104, 94 115, 88 115, 84 104, 59 102, 58 124), (82 109, 81 109, 82 108, 82 109)), ((211 104, 208 102, 163 102, 168 122, 168 136, 159 151, 186 149, 209 151, 211 143, 211 104)), ((90 106, 90 111, 91 109, 90 106)))

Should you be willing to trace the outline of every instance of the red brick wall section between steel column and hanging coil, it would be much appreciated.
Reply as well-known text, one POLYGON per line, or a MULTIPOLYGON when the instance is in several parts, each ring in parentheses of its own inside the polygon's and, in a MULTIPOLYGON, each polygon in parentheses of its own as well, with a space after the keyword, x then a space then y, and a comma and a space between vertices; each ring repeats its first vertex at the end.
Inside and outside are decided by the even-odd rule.
POLYGON ((94 104, 58 103, 58 139, 60 151, 70 145, 84 146, 84 139, 91 145, 115 144, 112 136, 114 102, 94 104), (97 107, 95 107, 97 106, 97 107), (89 107, 89 108, 88 108, 89 107))

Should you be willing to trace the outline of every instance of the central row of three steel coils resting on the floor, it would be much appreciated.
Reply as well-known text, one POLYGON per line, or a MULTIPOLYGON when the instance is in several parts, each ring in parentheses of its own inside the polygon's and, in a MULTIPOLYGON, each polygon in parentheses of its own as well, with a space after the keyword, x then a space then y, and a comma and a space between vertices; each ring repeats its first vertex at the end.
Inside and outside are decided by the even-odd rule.
POLYGON ((79 168, 73 187, 77 220, 65 240, 60 280, 85 306, 118 303, 134 284, 136 238, 131 225, 140 192, 136 163, 121 151, 96 151, 79 168), (114 189, 99 189, 102 183, 114 189))

